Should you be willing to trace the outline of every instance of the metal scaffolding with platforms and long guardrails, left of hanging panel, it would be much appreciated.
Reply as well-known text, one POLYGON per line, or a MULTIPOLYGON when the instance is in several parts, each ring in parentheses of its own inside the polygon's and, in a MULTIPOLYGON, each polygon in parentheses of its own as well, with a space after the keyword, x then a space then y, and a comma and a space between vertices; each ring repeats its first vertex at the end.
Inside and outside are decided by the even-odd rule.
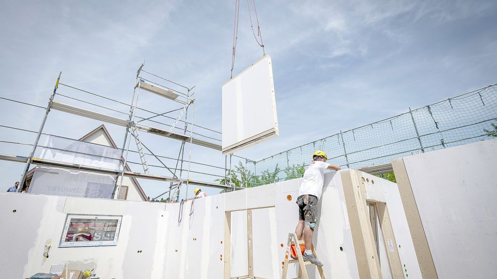
MULTIPOLYGON (((35 165, 44 165, 44 166, 52 166, 52 167, 59 167, 59 168, 64 168, 64 169, 77 169, 77 170, 84 170, 84 171, 89 171, 89 172, 94 172, 94 173, 104 173, 104 174, 112 174, 116 177, 115 179, 115 186, 114 186, 114 191, 112 193, 112 197, 114 199, 117 199, 119 197, 119 191, 120 191, 120 186, 122 184, 123 177, 134 177, 134 178, 142 178, 142 179, 150 179, 150 180, 159 180, 159 181, 164 181, 169 183, 169 189, 162 193, 161 195, 155 197, 155 199, 165 195, 168 193, 168 199, 169 200, 178 200, 179 199, 179 191, 182 186, 186 186, 186 190, 188 193, 188 187, 190 184, 192 185, 198 185, 198 186, 205 186, 205 187, 214 187, 214 188, 220 188, 220 189, 233 189, 233 187, 227 185, 227 184, 219 184, 219 183, 212 183, 212 182, 205 182, 205 181, 198 181, 198 180, 192 180, 190 179, 190 173, 199 173, 199 174, 205 174, 205 175, 211 175, 209 173, 202 173, 202 172, 195 172, 191 170, 191 165, 192 163, 197 164, 197 165, 203 165, 203 166, 209 166, 212 168, 216 169, 222 169, 224 171, 224 176, 216 176, 218 180, 221 180, 223 177, 226 177, 226 173, 228 172, 228 158, 225 157, 225 166, 224 168, 220 166, 214 166, 214 165, 209 165, 209 164, 204 164, 204 163, 199 163, 199 162, 193 162, 191 160, 191 154, 192 154, 192 145, 199 145, 203 147, 208 147, 210 149, 214 150, 220 150, 220 139, 214 138, 213 136, 208 136, 208 135, 203 135, 201 133, 194 132, 194 128, 200 128, 203 130, 210 131, 211 133, 218 133, 219 132, 201 127, 201 126, 195 126, 194 125, 194 114, 195 114, 195 99, 192 97, 193 94, 195 93, 193 91, 194 87, 188 88, 186 86, 183 86, 179 83, 175 83, 173 81, 170 81, 168 79, 165 79, 163 77, 160 77, 158 75, 149 73, 145 71, 144 69, 144 64, 140 66, 140 68, 137 71, 136 75, 136 82, 135 86, 133 89, 133 94, 132 94, 132 100, 130 104, 126 104, 124 102, 114 100, 96 93, 92 93, 89 91, 82 90, 80 88, 76 88, 74 86, 70 86, 67 84, 64 84, 60 82, 60 77, 61 73, 59 74, 59 77, 57 79, 55 88, 53 93, 51 94, 49 98, 49 103, 47 107, 42 107, 38 105, 33 105, 25 102, 20 102, 8 98, 3 98, 4 100, 8 101, 14 101, 26 105, 32 105, 35 107, 39 108, 44 108, 45 109, 45 114, 43 116, 40 128, 38 132, 36 131, 31 131, 27 129, 20 129, 17 127, 11 127, 7 125, 0 125, 0 127, 3 128, 8 128, 8 129, 15 129, 15 130, 20 130, 20 131, 25 131, 25 132, 31 132, 31 133, 36 133, 36 138, 34 141, 34 144, 27 144, 27 143, 19 143, 16 141, 0 141, 3 143, 10 143, 10 144, 21 144, 21 145, 26 145, 26 146, 31 146, 31 152, 29 153, 28 156, 19 156, 19 155, 12 155, 12 154, 0 154, 0 159, 1 160, 9 160, 9 161, 17 161, 17 162, 24 162, 25 163, 25 168, 21 177, 20 185, 23 185, 25 179, 26 179, 26 174, 30 170, 30 167, 32 164, 35 165), (162 83, 165 83, 166 85, 162 85, 159 83, 156 83, 152 81, 149 77, 156 78, 162 81, 162 83), (129 112, 126 114, 121 110, 114 109, 114 106, 111 105, 99 105, 93 102, 88 102, 84 101, 79 98, 74 98, 65 94, 62 94, 60 92, 57 92, 59 86, 64 86, 68 89, 71 90, 77 90, 77 92, 82 92, 84 94, 89 94, 92 97, 98 97, 101 99, 105 99, 106 101, 111 101, 112 103, 119 104, 119 105, 126 105, 129 108, 129 112), (173 107, 173 109, 166 111, 165 113, 155 113, 154 111, 151 111, 149 109, 145 109, 142 107, 138 106, 140 94, 144 94, 143 92, 147 93, 153 93, 155 95, 158 95, 162 97, 163 100, 171 101, 172 103, 176 104, 176 107, 173 107), (57 97, 57 100, 56 100, 57 97), (65 98, 71 101, 75 101, 78 105, 72 105, 69 103, 66 103, 65 101, 61 101, 61 98, 65 98), (94 111, 92 109, 87 109, 85 107, 81 107, 81 104, 83 105, 91 105, 93 107, 98 107, 98 109, 105 109, 106 111, 110 111, 111 114, 118 113, 121 115, 126 115, 127 118, 120 118, 116 117, 113 115, 109 115, 107 113, 102 113, 100 111, 94 111), (179 104, 179 107, 177 105, 179 104), (112 108, 111 108, 112 107, 112 108), (118 126, 125 127, 125 134, 124 134, 124 141, 122 144, 122 147, 119 148, 118 150, 107 150, 107 154, 111 152, 113 155, 108 157, 109 155, 104 155, 104 153, 92 153, 92 154, 87 154, 85 151, 77 151, 78 148, 74 147, 69 147, 69 146, 74 146, 74 145, 81 145, 82 142, 70 138, 64 138, 56 135, 49 135, 43 133, 43 128, 47 122, 48 115, 51 110, 59 110, 64 113, 72 114, 72 115, 77 115, 77 116, 82 116, 85 118, 89 119, 94 119, 98 121, 102 121, 105 123, 110 123, 118 126), (152 116, 149 117, 140 117, 137 115, 137 111, 145 111, 148 114, 151 114, 152 116), (172 117, 171 113, 175 113, 176 116, 172 117), (156 121, 157 117, 162 117, 168 120, 172 120, 172 124, 164 123, 164 122, 159 122, 156 121), (145 124, 144 122, 149 122, 153 123, 154 126, 145 124), (156 155, 154 152, 152 152, 143 142, 143 140, 140 137, 139 133, 148 133, 148 134, 153 134, 153 135, 159 135, 163 136, 169 139, 177 140, 180 142, 180 148, 177 153, 177 158, 172 158, 172 157, 166 157, 166 156, 161 156, 161 155, 156 155), (66 142, 65 144, 59 145, 59 146, 54 146, 53 144, 47 144, 47 140, 45 140, 45 144, 40 144, 40 138, 42 136, 46 136, 47 138, 50 138, 51 141, 59 141, 61 142, 62 139, 66 142), (137 151, 130 150, 130 142, 131 137, 134 138, 134 142, 137 146, 137 151), (188 148, 187 148, 188 144, 188 148), (84 160, 78 160, 77 162, 74 161, 64 161, 60 158, 55 157, 50 157, 49 158, 44 158, 41 155, 38 155, 38 153, 47 153, 47 150, 52 150, 55 153, 57 152, 72 152, 74 154, 77 154, 78 156, 93 156, 94 160, 86 160, 86 163, 84 163, 84 160), (118 156, 116 156, 116 151, 118 156), (138 154, 140 158, 140 162, 133 162, 128 159, 128 155, 130 153, 136 153, 138 154), (157 160, 160 165, 154 165, 150 164, 148 162, 148 157, 152 156, 155 160, 157 160), (114 162, 117 162, 115 164, 107 164, 104 167, 100 164, 95 165, 94 162, 95 158, 96 160, 111 160, 114 162), (172 163, 168 162, 165 163, 164 159, 168 159, 169 161, 173 161, 172 163), (89 163, 88 163, 89 162, 89 163), (126 164, 127 163, 133 163, 133 164, 140 164, 144 170, 143 173, 135 173, 135 172, 130 172, 126 170, 126 164), (153 168, 161 168, 164 169, 165 171, 168 172, 167 176, 164 175, 157 175, 157 174, 151 174, 149 167, 153 168)), ((94 143, 84 143, 86 145, 89 145, 89 149, 96 149, 96 146, 98 144, 94 143)), ((106 148, 110 148, 107 147, 106 148)), ((81 149, 81 148, 79 148, 81 149)), ((86 148, 87 149, 87 148, 86 148)), ((98 148, 97 148, 98 149, 98 148)), ((51 152, 48 152, 51 153, 51 152)), ((73 156, 74 157, 74 156, 73 156)), ((230 156, 230 165, 231 165, 231 157, 230 156)), ((241 158, 245 159, 245 158, 241 158)), ((246 160, 246 159, 245 159, 246 160)), ((22 187, 19 187, 19 192, 21 191, 22 187)))

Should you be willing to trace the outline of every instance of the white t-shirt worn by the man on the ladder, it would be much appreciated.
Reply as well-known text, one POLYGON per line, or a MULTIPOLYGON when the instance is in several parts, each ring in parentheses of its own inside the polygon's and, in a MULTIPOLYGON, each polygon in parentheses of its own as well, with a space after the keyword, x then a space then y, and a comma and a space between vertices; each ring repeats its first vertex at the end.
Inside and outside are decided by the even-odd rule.
POLYGON ((314 195, 321 198, 323 184, 325 181, 324 171, 330 164, 322 161, 313 161, 304 172, 302 185, 300 185, 298 195, 314 195))

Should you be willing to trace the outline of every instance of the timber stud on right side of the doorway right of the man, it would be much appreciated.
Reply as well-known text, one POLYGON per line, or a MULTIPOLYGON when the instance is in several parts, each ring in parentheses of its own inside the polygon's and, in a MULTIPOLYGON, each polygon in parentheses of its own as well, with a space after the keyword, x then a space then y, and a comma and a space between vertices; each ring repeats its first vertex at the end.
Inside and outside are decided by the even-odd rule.
MULTIPOLYGON (((390 221, 390 214, 388 214, 387 204, 384 202, 375 202, 375 209, 378 214, 378 221, 380 222, 381 232, 383 233, 383 241, 385 250, 387 251, 388 263, 390 264, 390 271, 392 272, 393 279, 403 279, 404 272, 402 264, 400 263, 400 256, 398 255, 397 242, 393 234, 392 223, 390 221), (388 243, 390 241, 390 244, 388 243), (393 246, 390 247, 389 245, 393 246), (393 249, 392 249, 393 248, 393 249)), ((380 245, 380 243, 378 243, 380 245)))

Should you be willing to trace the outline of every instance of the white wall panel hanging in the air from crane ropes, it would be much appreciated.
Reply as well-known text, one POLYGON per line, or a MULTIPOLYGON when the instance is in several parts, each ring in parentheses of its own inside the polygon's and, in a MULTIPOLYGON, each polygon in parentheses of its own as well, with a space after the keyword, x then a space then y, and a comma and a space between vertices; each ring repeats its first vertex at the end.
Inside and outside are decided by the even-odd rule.
POLYGON ((222 153, 278 136, 271 58, 264 55, 221 87, 222 153))

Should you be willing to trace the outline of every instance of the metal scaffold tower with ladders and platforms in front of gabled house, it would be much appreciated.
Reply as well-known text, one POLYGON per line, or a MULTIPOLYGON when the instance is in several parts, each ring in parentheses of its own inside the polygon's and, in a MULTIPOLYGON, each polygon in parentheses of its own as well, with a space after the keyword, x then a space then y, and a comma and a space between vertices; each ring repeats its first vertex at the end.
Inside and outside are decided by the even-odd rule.
MULTIPOLYGON (((233 187, 229 186, 229 185, 221 185, 221 184, 210 183, 210 182, 194 181, 194 180, 190 179, 190 171, 191 171, 191 163, 192 163, 191 156, 192 156, 192 145, 193 144, 208 147, 208 148, 219 150, 219 151, 221 150, 220 144, 213 143, 211 141, 207 141, 207 140, 204 140, 201 138, 194 137, 194 134, 195 134, 194 133, 195 99, 192 96, 194 94, 193 89, 195 86, 192 88, 188 88, 186 86, 172 82, 172 81, 167 80, 167 79, 160 77, 158 75, 149 73, 143 69, 144 66, 145 66, 145 62, 140 66, 140 68, 137 71, 136 82, 135 82, 135 86, 133 89, 132 99, 131 99, 131 102, 129 104, 129 113, 128 113, 127 119, 122 119, 122 118, 102 114, 102 113, 99 113, 97 111, 88 110, 86 108, 73 106, 73 105, 62 103, 60 101, 55 100, 56 95, 59 95, 59 93, 57 93, 57 89, 59 88, 59 85, 67 86, 67 87, 70 87, 70 88, 73 88, 76 90, 80 90, 80 91, 83 91, 86 93, 97 95, 97 94, 87 92, 87 91, 84 91, 84 90, 81 90, 81 89, 78 89, 78 88, 61 83, 60 77, 61 77, 62 72, 59 73, 59 77, 57 79, 54 91, 49 98, 49 104, 46 108, 46 111, 45 111, 45 114, 43 116, 40 128, 37 132, 35 142, 33 144, 33 149, 31 151, 31 153, 29 154, 29 156, 23 157, 23 156, 14 156, 14 155, 3 154, 4 156, 2 159, 11 160, 11 161, 24 161, 26 163, 21 180, 20 180, 20 184, 23 185, 31 164, 36 164, 36 165, 59 166, 59 167, 68 168, 68 169, 79 169, 79 170, 93 171, 93 172, 98 172, 98 173, 113 174, 116 176, 114 192, 112 195, 112 197, 114 199, 117 199, 119 197, 119 191, 120 191, 121 184, 123 182, 124 177, 134 177, 134 178, 143 178, 143 179, 151 179, 151 180, 159 180, 159 181, 169 182, 169 189, 167 189, 167 191, 165 191, 164 193, 162 193, 161 195, 157 196, 154 199, 157 199, 157 198, 168 193, 169 200, 175 199, 177 201, 179 199, 180 188, 182 186, 186 185, 186 191, 188 193, 188 186, 190 184, 198 185, 198 186, 214 187, 214 188, 220 188, 220 189, 232 189, 233 187), (172 84, 176 87, 184 88, 186 90, 186 93, 170 88, 170 87, 174 87, 174 86, 168 87, 168 86, 163 86, 161 84, 155 83, 155 82, 143 77, 142 74, 151 75, 155 78, 158 78, 158 79, 166 82, 167 84, 172 84), (159 113, 152 113, 152 111, 150 111, 150 110, 145 110, 143 108, 138 107, 140 94, 143 94, 142 92, 153 93, 155 95, 161 96, 161 97, 163 97, 164 100, 179 104, 180 107, 173 109, 173 110, 166 111, 165 113, 160 113, 160 114, 159 113), (152 113, 153 116, 148 117, 148 118, 138 117, 136 115, 138 108, 145 110, 145 111, 148 111, 149 113, 152 113), (121 154, 120 158, 121 159, 120 159, 118 170, 95 168, 92 166, 85 166, 85 165, 80 165, 80 164, 76 165, 76 164, 60 162, 60 161, 48 161, 48 160, 42 160, 42 159, 34 157, 36 148, 39 146, 38 143, 40 140, 40 136, 43 134, 42 133, 43 128, 46 124, 48 115, 52 109, 63 111, 65 113, 69 113, 72 115, 82 116, 82 117, 86 117, 89 119, 94 119, 94 120, 103 121, 106 123, 111 123, 111 124, 125 127, 126 130, 125 130, 125 134, 124 134, 124 141, 123 141, 122 147, 120 148, 120 154, 121 154), (170 114, 170 113, 174 113, 174 112, 176 112, 177 117, 175 117, 175 118, 168 117, 168 118, 171 118, 174 120, 172 125, 166 124, 167 126, 169 126, 169 129, 152 127, 152 126, 149 126, 149 125, 146 125, 143 123, 146 120, 152 121, 151 119, 153 119, 153 118, 156 118, 159 116, 164 116, 166 114, 170 114), (189 114, 191 117, 191 122, 188 121, 189 114), (184 118, 185 120, 182 120, 182 118, 184 118), (183 127, 178 127, 178 124, 180 122, 184 123, 183 127), (181 132, 176 132, 176 131, 174 131, 175 129, 176 129, 176 131, 180 130, 181 132), (161 157, 164 158, 163 156, 158 156, 158 155, 154 154, 144 144, 144 142, 142 141, 140 134, 139 134, 139 133, 143 133, 143 132, 163 136, 163 137, 178 140, 181 142, 174 168, 166 165, 166 163, 164 163, 164 161, 161 159, 161 157), (130 142, 132 141, 131 137, 134 139, 134 142, 137 146, 138 151, 130 151, 129 147, 130 147, 130 142), (188 150, 186 150, 187 143, 188 143, 188 150), (148 153, 146 153, 145 150, 148 153), (187 154, 185 153, 186 151, 188 152, 187 154), (138 153, 138 156, 140 157, 140 162, 143 166, 143 173, 135 173, 135 172, 131 172, 131 171, 127 170, 126 163, 128 162, 129 152, 137 152, 138 153), (152 155, 153 157, 155 157, 155 159, 157 159, 162 164, 161 168, 164 168, 165 170, 167 170, 170 173, 170 176, 150 174, 149 163, 147 162, 147 155, 152 155), (188 158, 185 158, 185 156, 187 156, 188 158), (185 168, 185 166, 184 166, 185 161, 188 161, 187 168, 185 168), (184 171, 186 172, 186 178, 183 178, 184 171)), ((184 90, 182 90, 182 91, 184 91, 184 90)), ((64 96, 64 95, 62 95, 62 96, 64 96)), ((104 96, 100 96, 100 95, 97 95, 97 96, 109 99, 109 98, 104 97, 104 96)), ((67 96, 64 96, 64 97, 67 97, 67 96)), ((111 99, 109 99, 109 100, 111 100, 111 99)), ((113 100, 113 101, 115 101, 115 100, 113 100)), ((101 106, 101 107, 103 107, 103 106, 101 106)), ((155 121, 153 121, 153 122, 155 122, 155 121)), ((159 122, 157 122, 157 123, 159 123, 159 122)), ((163 123, 160 123, 160 124, 163 124, 163 123)), ((204 128, 204 129, 207 129, 207 128, 204 128)), ((213 131, 213 130, 211 130, 211 131, 213 131)), ((196 134, 196 135, 200 135, 200 134, 196 134)), ((226 170, 224 170, 224 171, 226 171, 226 170)), ((21 189, 21 187, 19 187, 19 190, 20 189, 21 189)))

